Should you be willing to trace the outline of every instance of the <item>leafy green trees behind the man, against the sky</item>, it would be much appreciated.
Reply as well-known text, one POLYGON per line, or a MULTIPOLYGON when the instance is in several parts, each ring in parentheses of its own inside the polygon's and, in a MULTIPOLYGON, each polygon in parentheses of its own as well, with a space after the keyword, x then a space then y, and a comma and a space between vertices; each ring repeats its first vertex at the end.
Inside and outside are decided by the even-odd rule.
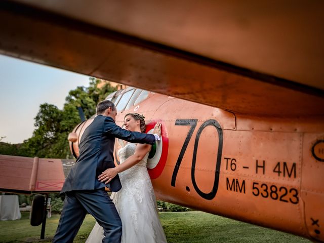
POLYGON ((77 107, 82 107, 86 118, 96 113, 96 105, 115 91, 109 83, 98 88, 101 80, 90 78, 89 87, 77 87, 65 98, 62 110, 52 104, 39 106, 35 117, 35 130, 31 138, 23 144, 0 144, 0 154, 43 158, 72 158, 67 136, 80 123, 77 107))

